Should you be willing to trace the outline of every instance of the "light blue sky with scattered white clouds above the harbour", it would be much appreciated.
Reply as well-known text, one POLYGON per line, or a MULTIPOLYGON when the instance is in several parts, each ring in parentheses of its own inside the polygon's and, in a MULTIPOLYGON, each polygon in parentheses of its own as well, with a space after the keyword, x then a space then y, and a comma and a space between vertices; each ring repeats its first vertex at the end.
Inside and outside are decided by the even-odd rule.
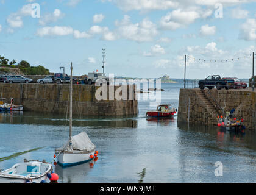
POLYGON ((0 55, 54 73, 249 78, 255 43, 255 0, 0 0, 0 55))

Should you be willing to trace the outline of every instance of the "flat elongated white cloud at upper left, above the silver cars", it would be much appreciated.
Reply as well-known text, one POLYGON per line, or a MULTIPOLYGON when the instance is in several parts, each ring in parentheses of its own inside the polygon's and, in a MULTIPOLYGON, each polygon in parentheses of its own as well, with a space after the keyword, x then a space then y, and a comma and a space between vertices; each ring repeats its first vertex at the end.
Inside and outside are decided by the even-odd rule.
POLYGON ((44 36, 65 36, 73 34, 74 30, 66 26, 43 27, 37 30, 39 37, 44 36))

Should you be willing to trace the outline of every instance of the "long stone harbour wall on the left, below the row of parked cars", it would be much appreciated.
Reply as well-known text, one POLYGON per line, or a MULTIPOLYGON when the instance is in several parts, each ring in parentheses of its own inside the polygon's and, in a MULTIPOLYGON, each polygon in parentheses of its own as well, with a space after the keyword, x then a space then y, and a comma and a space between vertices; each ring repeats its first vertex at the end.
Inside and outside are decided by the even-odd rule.
MULTIPOLYGON (((73 113, 87 116, 129 116, 138 114, 135 85, 127 85, 127 97, 132 100, 96 99, 94 85, 73 85, 73 113)), ((119 87, 114 87, 116 91, 119 87)), ((109 86, 108 86, 109 89, 109 86)), ((10 103, 23 105, 24 111, 66 113, 69 105, 69 85, 0 84, 0 94, 10 103)), ((121 93, 122 94, 122 93, 121 93)), ((110 96, 108 90, 108 97, 110 96)), ((109 98, 108 98, 109 99, 109 98)))

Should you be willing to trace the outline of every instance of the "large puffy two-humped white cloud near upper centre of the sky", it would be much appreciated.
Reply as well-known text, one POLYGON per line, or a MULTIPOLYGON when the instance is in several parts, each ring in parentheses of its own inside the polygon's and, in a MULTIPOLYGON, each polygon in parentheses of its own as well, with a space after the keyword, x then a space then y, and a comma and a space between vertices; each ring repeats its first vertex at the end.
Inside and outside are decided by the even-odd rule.
POLYGON ((152 41, 158 34, 157 26, 145 18, 141 23, 131 23, 128 15, 122 21, 116 21, 116 34, 120 38, 137 41, 138 43, 152 41))

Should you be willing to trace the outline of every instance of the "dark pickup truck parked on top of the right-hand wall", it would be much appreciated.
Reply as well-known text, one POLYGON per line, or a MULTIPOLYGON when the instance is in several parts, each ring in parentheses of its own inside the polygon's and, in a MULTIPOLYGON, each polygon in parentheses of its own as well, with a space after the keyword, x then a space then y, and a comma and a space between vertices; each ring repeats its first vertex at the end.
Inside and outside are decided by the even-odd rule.
POLYGON ((221 79, 219 75, 208 76, 205 80, 199 80, 199 88, 204 90, 205 87, 208 87, 210 90, 216 86, 217 90, 226 88, 226 90, 233 88, 235 85, 235 80, 233 79, 221 79))

